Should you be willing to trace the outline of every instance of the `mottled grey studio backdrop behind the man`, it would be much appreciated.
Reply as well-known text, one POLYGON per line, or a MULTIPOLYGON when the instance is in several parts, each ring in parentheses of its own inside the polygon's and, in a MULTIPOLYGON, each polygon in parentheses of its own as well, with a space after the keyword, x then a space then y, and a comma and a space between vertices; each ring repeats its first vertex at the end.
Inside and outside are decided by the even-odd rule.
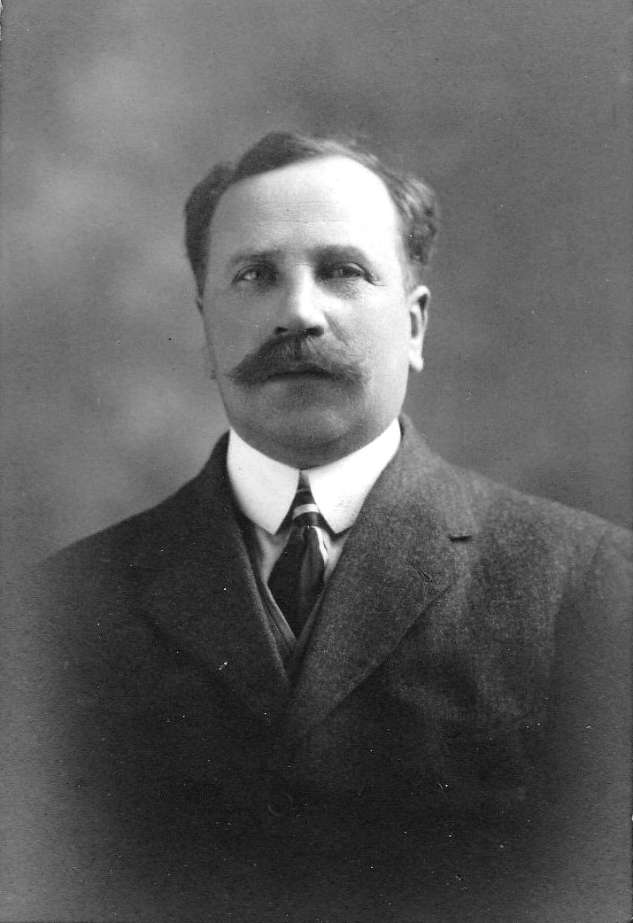
POLYGON ((615 0, 6 0, 6 567, 205 461, 182 206, 281 127, 436 187, 408 402, 436 449, 629 523, 628 55, 615 0))

